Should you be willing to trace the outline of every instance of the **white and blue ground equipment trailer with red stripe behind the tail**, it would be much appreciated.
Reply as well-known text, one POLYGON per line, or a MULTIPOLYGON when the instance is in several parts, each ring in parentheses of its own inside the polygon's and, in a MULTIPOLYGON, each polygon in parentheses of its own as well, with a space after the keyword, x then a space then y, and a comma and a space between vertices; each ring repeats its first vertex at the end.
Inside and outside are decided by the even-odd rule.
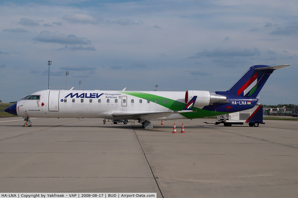
POLYGON ((235 113, 229 113, 224 115, 218 115, 215 125, 223 123, 224 126, 232 126, 232 124, 248 123, 249 126, 258 127, 259 124, 265 124, 263 122, 263 106, 262 104, 256 104, 253 108, 235 113))

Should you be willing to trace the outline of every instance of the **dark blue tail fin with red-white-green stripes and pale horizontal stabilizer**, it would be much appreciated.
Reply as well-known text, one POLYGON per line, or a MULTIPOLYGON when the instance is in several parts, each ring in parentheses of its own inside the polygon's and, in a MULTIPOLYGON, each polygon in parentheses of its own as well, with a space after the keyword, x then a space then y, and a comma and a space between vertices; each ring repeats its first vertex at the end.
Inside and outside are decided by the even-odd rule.
POLYGON ((272 67, 266 65, 251 66, 249 70, 228 91, 216 91, 215 93, 256 98, 272 72, 276 69, 280 69, 289 65, 290 64, 272 67))

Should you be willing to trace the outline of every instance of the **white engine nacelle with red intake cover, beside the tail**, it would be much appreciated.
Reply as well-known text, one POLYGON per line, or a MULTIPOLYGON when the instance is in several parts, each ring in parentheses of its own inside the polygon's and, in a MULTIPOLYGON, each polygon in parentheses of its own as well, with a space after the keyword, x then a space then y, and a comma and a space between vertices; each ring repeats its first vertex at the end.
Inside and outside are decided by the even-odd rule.
POLYGON ((209 91, 186 91, 185 93, 185 103, 187 104, 193 96, 197 96, 194 106, 208 106, 209 104, 217 102, 225 102, 226 96, 213 94, 209 91))

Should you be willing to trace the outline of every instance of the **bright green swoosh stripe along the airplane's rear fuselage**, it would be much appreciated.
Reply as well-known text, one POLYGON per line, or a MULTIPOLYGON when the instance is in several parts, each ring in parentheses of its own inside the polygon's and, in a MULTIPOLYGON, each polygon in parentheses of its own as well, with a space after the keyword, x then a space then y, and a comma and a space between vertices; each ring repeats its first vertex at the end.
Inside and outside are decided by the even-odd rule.
MULTIPOLYGON (((162 105, 163 107, 166 107, 172 111, 181 111, 184 109, 186 106, 185 103, 179 102, 170 98, 165 98, 162 96, 156 96, 153 94, 147 94, 144 92, 139 92, 139 91, 118 91, 119 93, 122 94, 127 94, 135 97, 139 97, 145 100, 150 100, 150 102, 155 102, 155 100, 158 100, 159 102, 157 104, 162 105), (164 103, 164 100, 167 100, 167 103, 164 103)), ((187 112, 187 113, 180 113, 184 117, 188 119, 195 119, 195 118, 204 118, 204 117, 211 117, 215 116, 215 111, 208 111, 208 110, 203 110, 197 107, 193 107, 194 112, 187 112), (196 111, 196 112, 195 112, 196 111)), ((226 112, 217 112, 217 115, 222 115, 226 114, 226 112)))

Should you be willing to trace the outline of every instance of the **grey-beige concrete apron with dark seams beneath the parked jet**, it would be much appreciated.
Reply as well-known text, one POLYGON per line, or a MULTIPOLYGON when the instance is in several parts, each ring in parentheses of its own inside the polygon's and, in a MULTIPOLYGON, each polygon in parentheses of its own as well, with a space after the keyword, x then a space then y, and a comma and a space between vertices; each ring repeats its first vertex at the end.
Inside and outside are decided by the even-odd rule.
POLYGON ((170 120, 153 121, 153 129, 91 118, 31 121, 22 127, 21 117, 0 118, 0 192, 298 196, 298 121, 170 120))

